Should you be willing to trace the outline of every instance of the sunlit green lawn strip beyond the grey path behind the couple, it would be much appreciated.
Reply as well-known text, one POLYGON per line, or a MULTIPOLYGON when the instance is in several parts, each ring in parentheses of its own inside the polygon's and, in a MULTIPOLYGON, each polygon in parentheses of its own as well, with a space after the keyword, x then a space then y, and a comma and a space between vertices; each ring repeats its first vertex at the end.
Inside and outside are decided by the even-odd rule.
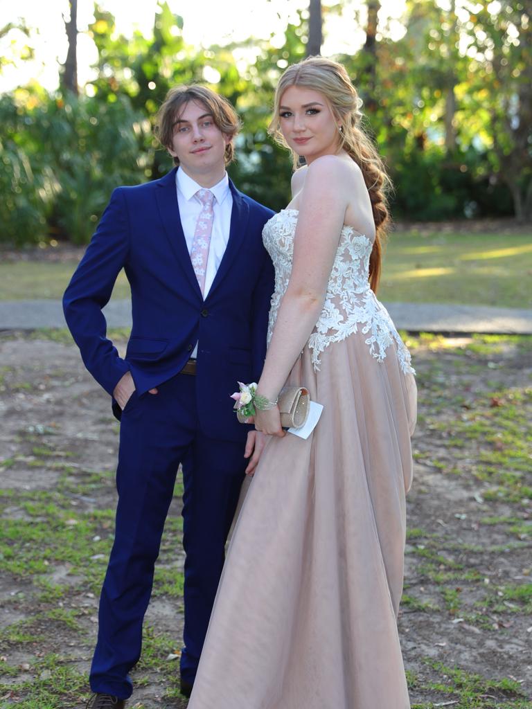
MULTIPOLYGON (((1 255, 0 255, 1 258, 1 255)), ((60 298, 74 260, 0 262, 0 300, 60 298)), ((384 302, 532 307, 532 233, 392 233, 379 298, 384 302)), ((123 272, 114 298, 128 298, 123 272)))

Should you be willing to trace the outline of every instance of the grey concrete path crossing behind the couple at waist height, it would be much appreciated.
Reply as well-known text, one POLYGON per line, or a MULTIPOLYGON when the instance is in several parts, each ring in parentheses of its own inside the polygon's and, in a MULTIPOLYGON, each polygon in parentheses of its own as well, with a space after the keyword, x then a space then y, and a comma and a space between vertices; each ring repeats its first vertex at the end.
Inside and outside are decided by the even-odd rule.
MULTIPOLYGON (((388 303, 399 330, 411 333, 532 335, 532 310, 435 303, 388 303)), ((104 310, 109 328, 131 327, 130 301, 111 301, 104 310)), ((60 301, 0 301, 0 330, 65 328, 60 301)))

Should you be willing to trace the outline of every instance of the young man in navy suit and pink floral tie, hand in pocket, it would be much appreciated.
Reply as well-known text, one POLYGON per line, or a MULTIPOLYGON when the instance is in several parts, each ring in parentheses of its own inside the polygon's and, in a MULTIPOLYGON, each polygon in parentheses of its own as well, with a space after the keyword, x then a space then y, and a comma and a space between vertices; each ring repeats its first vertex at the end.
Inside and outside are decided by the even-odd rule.
POLYGON ((264 445, 238 423, 230 395, 237 381, 258 381, 265 358, 273 269, 262 227, 272 211, 228 179, 239 127, 228 101, 205 86, 181 86, 158 118, 177 167, 113 192, 63 301, 84 364, 121 418, 116 533, 100 598, 92 709, 121 708, 131 695, 128 672, 140 657, 179 464, 186 554, 180 669, 189 695, 240 485, 264 445), (101 313, 122 268, 133 309, 125 359, 106 337, 101 313))

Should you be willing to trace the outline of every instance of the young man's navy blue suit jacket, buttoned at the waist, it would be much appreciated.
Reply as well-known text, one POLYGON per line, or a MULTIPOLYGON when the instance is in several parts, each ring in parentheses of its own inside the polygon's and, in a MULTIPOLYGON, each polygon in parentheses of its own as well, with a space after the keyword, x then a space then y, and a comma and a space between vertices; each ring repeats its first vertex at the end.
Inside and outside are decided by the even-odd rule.
POLYGON ((70 281, 63 309, 85 366, 112 394, 128 370, 138 395, 177 374, 196 342, 199 424, 210 437, 241 440, 231 393, 237 380, 258 381, 266 352, 273 267, 262 227, 273 212, 233 196, 226 252, 204 301, 184 239, 175 169, 165 177, 118 187, 70 281), (101 313, 124 268, 133 328, 126 358, 106 337, 101 313))

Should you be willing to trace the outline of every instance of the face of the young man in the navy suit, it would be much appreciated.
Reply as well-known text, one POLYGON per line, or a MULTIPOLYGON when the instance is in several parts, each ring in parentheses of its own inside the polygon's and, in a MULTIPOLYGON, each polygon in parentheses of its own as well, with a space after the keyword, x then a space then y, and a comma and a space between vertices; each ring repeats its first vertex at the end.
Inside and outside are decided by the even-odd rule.
POLYGON ((230 142, 231 136, 221 132, 209 109, 198 101, 189 101, 175 118, 168 152, 179 159, 179 166, 192 179, 218 173, 221 179, 226 145, 230 142))

